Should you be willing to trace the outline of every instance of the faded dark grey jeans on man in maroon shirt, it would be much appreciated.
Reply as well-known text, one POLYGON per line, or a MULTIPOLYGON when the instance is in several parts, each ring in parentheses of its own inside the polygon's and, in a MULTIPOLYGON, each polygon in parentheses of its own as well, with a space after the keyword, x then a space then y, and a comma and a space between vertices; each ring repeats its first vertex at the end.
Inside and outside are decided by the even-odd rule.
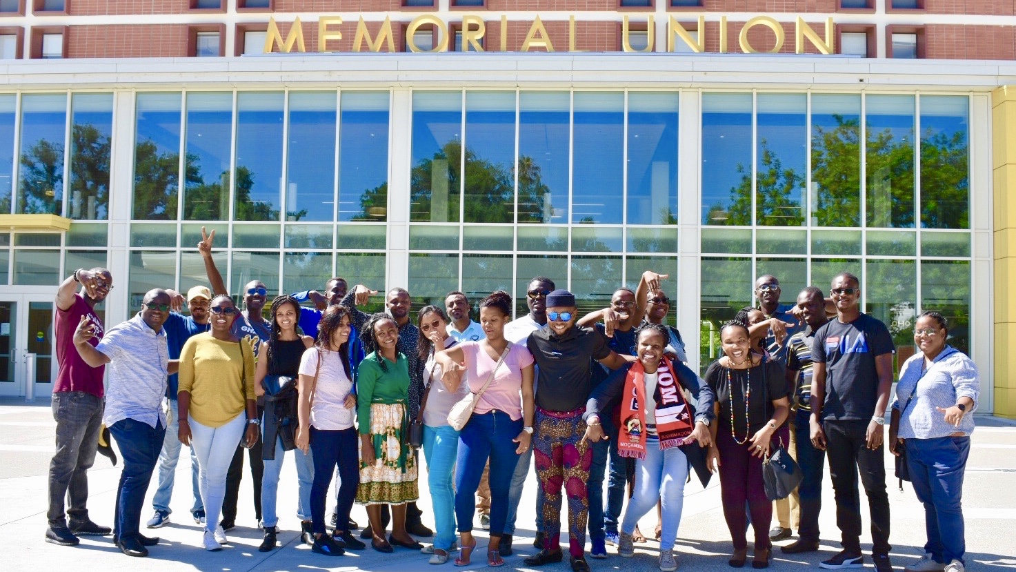
POLYGON ((99 450, 103 399, 84 391, 54 393, 50 406, 57 422, 56 453, 50 461, 50 526, 88 520, 88 474, 99 450), (64 498, 67 512, 64 513, 64 498))

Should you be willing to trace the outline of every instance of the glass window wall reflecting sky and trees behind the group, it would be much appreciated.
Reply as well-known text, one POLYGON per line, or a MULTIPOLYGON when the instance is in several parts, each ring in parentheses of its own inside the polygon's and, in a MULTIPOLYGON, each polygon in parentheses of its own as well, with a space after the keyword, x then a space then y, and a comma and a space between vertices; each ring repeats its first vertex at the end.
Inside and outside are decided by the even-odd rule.
POLYGON ((951 342, 969 351, 969 96, 417 90, 405 129, 387 90, 132 97, 133 132, 120 136, 133 137, 133 156, 119 158, 133 187, 111 198, 113 93, 0 93, 0 212, 74 220, 64 235, 0 234, 0 283, 55 284, 107 264, 111 201, 129 201, 119 281, 132 303, 206 283, 202 226, 217 230, 233 292, 251 279, 317 289, 333 275, 405 285, 387 283, 399 204, 415 304, 503 289, 521 315, 528 279, 547 275, 586 311, 652 269, 671 276, 672 321, 698 312, 704 368, 719 324, 755 302, 755 277, 776 275, 792 303, 846 270, 900 363, 924 309, 943 312, 951 342), (679 113, 685 98, 697 116, 679 113), (389 189, 389 154, 402 148, 407 184, 389 189), (681 183, 696 180, 687 173, 698 188, 681 183), (688 193, 699 210, 682 217, 688 193), (686 228, 698 244, 679 245, 686 228), (698 275, 679 263, 689 253, 698 275))

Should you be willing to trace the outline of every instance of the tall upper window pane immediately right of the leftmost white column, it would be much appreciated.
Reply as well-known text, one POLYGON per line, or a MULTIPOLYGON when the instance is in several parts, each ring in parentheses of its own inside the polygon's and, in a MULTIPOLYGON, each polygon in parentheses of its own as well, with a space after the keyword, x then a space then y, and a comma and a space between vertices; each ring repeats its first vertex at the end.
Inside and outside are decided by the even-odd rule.
POLYGON ((176 220, 181 96, 138 93, 136 106, 132 216, 137 220, 176 220))

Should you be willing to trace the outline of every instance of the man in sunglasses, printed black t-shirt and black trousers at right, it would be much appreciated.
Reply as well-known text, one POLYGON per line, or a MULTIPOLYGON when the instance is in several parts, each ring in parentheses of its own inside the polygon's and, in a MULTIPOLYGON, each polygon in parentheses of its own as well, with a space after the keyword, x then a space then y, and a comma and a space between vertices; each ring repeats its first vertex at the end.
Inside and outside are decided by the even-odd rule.
POLYGON ((872 559, 890 572, 889 497, 882 450, 892 388, 892 336, 861 311, 861 280, 841 272, 832 280, 836 319, 815 332, 812 347, 812 444, 826 451, 836 497, 843 550, 819 564, 828 570, 861 568, 861 497, 858 473, 872 516, 872 559))

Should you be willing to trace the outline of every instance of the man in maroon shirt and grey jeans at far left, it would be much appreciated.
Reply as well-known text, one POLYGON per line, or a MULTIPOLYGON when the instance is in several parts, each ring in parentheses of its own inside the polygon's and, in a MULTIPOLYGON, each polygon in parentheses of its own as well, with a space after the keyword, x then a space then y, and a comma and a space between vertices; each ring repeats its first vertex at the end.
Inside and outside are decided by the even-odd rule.
POLYGON ((81 316, 96 324, 91 345, 103 337, 103 322, 96 315, 97 304, 113 290, 113 275, 106 268, 78 268, 57 291, 57 316, 54 323, 57 372, 53 387, 53 419, 57 422, 56 454, 50 461, 50 507, 46 513, 49 527, 46 542, 64 547, 78 544, 80 534, 106 535, 108 526, 88 518, 88 475, 96 460, 99 432, 103 424, 104 367, 92 368, 74 347, 74 329, 81 316), (77 287, 81 287, 78 294, 77 287), (64 513, 64 498, 67 512, 64 513), (69 520, 69 526, 68 526, 69 520))

